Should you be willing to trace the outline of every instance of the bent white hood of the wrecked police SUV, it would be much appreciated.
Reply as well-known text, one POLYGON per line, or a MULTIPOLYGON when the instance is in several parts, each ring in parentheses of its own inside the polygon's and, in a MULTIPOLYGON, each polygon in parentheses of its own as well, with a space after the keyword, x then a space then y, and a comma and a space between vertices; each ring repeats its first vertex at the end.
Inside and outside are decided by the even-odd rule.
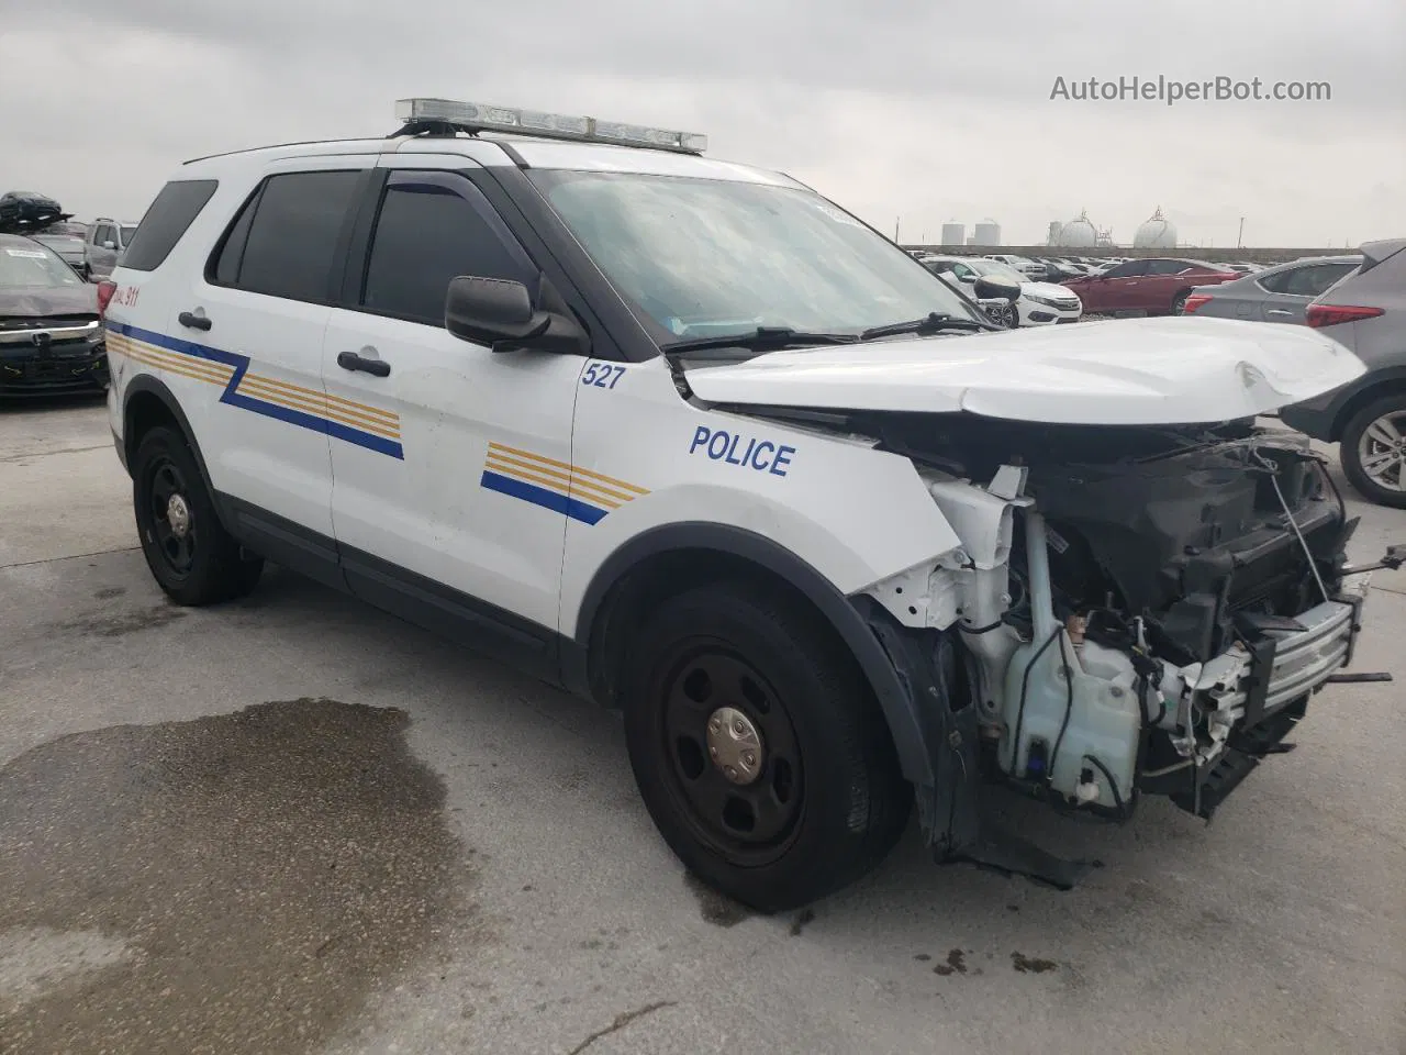
POLYGON ((1181 425, 1268 414, 1365 371, 1306 326, 1173 316, 772 352, 688 381, 718 404, 1181 425))

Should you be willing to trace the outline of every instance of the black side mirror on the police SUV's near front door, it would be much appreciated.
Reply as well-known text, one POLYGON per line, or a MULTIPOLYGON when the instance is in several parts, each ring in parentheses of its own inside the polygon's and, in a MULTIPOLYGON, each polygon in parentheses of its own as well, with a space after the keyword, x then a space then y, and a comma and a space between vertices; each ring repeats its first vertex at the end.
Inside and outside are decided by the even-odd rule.
POLYGON ((444 297, 444 328, 460 340, 494 352, 533 349, 585 354, 591 340, 581 324, 558 311, 534 309, 522 283, 461 274, 444 297))

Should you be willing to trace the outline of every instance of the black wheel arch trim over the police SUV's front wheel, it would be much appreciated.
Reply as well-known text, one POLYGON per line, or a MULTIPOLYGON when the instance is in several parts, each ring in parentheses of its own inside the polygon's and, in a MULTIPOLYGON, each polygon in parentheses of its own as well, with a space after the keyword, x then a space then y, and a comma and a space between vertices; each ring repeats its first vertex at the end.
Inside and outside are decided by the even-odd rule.
POLYGON ((613 706, 621 629, 628 629, 628 619, 681 589, 727 574, 773 582, 807 602, 849 650, 875 693, 903 775, 914 784, 932 784, 931 746, 907 679, 863 612, 807 561, 742 528, 706 522, 665 525, 637 535, 612 553, 582 595, 575 637, 562 656, 565 685, 613 706))

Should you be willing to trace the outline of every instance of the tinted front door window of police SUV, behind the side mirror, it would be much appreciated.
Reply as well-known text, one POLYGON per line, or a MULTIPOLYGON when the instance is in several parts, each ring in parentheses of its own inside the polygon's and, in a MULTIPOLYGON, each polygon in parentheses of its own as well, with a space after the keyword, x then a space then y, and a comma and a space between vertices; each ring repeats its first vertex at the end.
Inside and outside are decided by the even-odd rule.
POLYGON ((509 279, 537 291, 537 269, 468 180, 394 174, 371 239, 363 307, 441 326, 449 283, 461 274, 509 279))

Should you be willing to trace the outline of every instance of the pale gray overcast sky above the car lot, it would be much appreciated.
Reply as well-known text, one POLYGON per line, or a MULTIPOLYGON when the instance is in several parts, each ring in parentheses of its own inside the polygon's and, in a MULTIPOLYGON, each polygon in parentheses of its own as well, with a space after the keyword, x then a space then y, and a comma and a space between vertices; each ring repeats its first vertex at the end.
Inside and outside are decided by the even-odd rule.
POLYGON ((1406 235, 1402 0, 0 0, 0 190, 138 218, 173 166, 385 135, 443 96, 706 132, 901 238, 1406 235), (865 10, 868 8, 868 10, 865 10), (1050 100, 1119 76, 1329 82, 1319 103, 1050 100))

